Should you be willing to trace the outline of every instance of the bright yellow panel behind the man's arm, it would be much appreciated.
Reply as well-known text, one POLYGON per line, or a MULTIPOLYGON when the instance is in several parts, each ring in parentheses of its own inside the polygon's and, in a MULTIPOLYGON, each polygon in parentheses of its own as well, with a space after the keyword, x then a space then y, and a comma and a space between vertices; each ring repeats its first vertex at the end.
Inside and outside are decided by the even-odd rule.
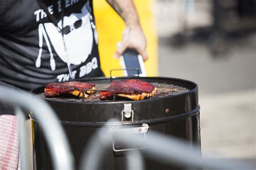
MULTIPOLYGON (((147 38, 147 55, 145 62, 147 76, 158 75, 158 42, 156 21, 153 15, 155 0, 133 0, 138 11, 140 24, 147 38)), ((111 69, 121 69, 119 59, 114 59, 116 44, 122 40, 125 24, 105 0, 94 0, 96 26, 99 35, 99 56, 102 70, 107 77, 111 69)), ((114 76, 123 76, 123 72, 115 72, 114 76)))

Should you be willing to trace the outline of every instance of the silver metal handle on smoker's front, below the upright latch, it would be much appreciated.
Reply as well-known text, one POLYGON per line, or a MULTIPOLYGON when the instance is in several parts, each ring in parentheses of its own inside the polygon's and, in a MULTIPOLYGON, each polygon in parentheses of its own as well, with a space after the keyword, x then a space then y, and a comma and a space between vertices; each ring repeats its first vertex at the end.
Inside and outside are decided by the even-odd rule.
MULTIPOLYGON (((149 125, 148 124, 142 124, 142 127, 133 127, 133 128, 122 128, 122 129, 116 129, 116 128, 111 128, 109 132, 119 132, 119 133, 127 133, 127 134, 138 134, 138 133, 143 133, 145 140, 146 139, 146 132, 149 130, 149 125)), ((138 148, 129 148, 129 149, 116 149, 114 146, 114 140, 113 140, 113 151, 114 152, 122 152, 122 151, 132 151, 136 149, 145 149, 145 147, 138 147, 138 148)))

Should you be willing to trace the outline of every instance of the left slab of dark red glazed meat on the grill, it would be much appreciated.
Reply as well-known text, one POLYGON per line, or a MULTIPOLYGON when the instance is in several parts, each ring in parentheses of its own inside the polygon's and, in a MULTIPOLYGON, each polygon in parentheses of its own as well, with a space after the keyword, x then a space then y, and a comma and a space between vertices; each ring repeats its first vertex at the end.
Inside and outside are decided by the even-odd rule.
MULTIPOLYGON (((95 84, 80 81, 49 83, 44 88, 44 95, 45 97, 56 97, 60 94, 73 94, 82 97, 84 89, 95 89, 95 84)), ((88 94, 93 92, 94 91, 86 91, 88 94)), ((85 97, 88 97, 88 95, 85 94, 85 97)))

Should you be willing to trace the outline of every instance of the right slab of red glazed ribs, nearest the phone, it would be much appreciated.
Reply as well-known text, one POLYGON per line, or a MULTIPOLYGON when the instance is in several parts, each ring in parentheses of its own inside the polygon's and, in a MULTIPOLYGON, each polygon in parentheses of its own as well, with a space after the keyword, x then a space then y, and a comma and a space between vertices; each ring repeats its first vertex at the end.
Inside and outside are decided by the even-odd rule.
MULTIPOLYGON (((125 81, 113 81, 109 90, 114 90, 117 97, 129 98, 132 100, 143 100, 156 94, 157 89, 151 83, 146 83, 138 79, 130 79, 125 81)), ((112 91, 101 91, 100 100, 106 100, 113 96, 112 91)))

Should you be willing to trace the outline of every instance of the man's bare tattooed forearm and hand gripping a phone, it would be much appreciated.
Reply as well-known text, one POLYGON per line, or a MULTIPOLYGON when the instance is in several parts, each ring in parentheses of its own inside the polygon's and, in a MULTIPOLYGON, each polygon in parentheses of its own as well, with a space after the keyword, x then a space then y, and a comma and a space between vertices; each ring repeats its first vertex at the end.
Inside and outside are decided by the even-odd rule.
POLYGON ((114 58, 120 57, 127 49, 135 49, 147 59, 146 37, 139 23, 138 13, 132 0, 106 0, 112 8, 123 18, 126 28, 123 32, 122 42, 119 43, 114 58))

